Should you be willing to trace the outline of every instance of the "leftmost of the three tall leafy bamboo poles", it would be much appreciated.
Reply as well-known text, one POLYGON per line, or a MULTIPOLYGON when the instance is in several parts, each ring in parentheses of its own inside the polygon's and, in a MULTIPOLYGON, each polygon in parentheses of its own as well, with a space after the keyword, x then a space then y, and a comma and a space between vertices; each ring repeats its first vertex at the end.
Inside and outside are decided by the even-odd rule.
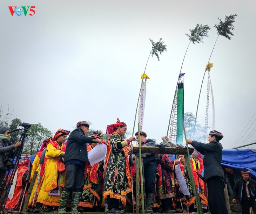
MULTIPOLYGON (((162 41, 162 38, 160 38, 160 40, 158 42, 154 42, 153 40, 151 40, 149 38, 149 41, 151 42, 152 44, 152 49, 150 51, 150 54, 148 56, 148 60, 149 60, 149 57, 150 55, 153 57, 153 56, 156 56, 157 57, 157 60, 160 61, 160 58, 159 58, 159 54, 162 55, 162 53, 164 51, 166 51, 166 45, 164 45, 164 41, 162 41)), ((148 65, 148 60, 147 60, 147 63, 146 63, 146 66, 145 66, 145 69, 144 69, 144 73, 146 72, 146 68, 147 68, 147 65, 148 65)), ((142 74, 142 75, 143 75, 142 74)), ((143 79, 142 78, 142 81, 141 81, 141 87, 140 87, 140 93, 139 93, 139 97, 138 97, 138 101, 137 101, 137 106, 136 106, 136 111, 135 111, 135 117, 134 117, 134 124, 133 124, 133 133, 132 135, 134 134, 134 128, 135 128, 135 122, 136 122, 136 116, 137 116, 137 110, 138 110, 138 106, 139 106, 139 100, 140 100, 140 95, 141 95, 141 88, 142 88, 142 84, 143 84, 143 79)))

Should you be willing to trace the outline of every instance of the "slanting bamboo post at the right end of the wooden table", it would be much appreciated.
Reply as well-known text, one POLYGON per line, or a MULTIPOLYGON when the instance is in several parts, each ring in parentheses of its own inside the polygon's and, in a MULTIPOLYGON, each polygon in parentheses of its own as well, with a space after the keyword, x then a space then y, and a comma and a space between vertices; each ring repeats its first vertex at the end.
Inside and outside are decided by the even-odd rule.
POLYGON ((194 176, 193 176, 193 173, 192 173, 190 158, 189 158, 189 156, 188 156, 188 154, 189 154, 189 149, 188 149, 187 135, 186 135, 186 130, 185 130, 185 125, 184 125, 184 123, 183 123, 183 130, 184 130, 184 136, 185 136, 186 145, 187 145, 187 153, 184 154, 185 162, 186 162, 186 167, 187 167, 187 169, 188 169, 188 175, 189 175, 189 178, 190 178, 190 181, 191 181, 191 185, 192 185, 192 189, 193 189, 193 193, 194 193, 195 199, 196 199, 197 213, 198 213, 198 214, 203 214, 202 205, 201 205, 201 202, 200 202, 199 195, 198 195, 198 193, 197 193, 197 188, 196 188, 194 176))

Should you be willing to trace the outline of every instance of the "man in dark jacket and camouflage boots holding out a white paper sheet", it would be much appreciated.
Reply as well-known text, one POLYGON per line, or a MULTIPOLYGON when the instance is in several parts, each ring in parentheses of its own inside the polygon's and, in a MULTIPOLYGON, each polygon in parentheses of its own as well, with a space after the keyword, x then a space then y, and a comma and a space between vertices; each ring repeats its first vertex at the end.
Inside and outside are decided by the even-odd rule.
POLYGON ((83 190, 85 166, 86 163, 88 163, 86 144, 101 142, 98 138, 85 136, 90 127, 88 122, 78 122, 76 127, 77 128, 73 130, 68 137, 64 157, 64 164, 66 167, 66 185, 62 191, 58 213, 66 213, 66 204, 72 190, 71 212, 74 214, 79 213, 77 206, 80 194, 83 190))

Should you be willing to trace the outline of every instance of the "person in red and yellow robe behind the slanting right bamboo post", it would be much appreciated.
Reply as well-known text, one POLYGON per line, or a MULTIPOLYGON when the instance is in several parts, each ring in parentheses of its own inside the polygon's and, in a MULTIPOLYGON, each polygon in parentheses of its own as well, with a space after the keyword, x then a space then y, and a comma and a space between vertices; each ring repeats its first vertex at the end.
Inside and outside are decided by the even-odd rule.
MULTIPOLYGON (((200 156, 200 155, 201 154, 194 149, 194 151, 191 155, 191 158, 190 158, 190 163, 191 163, 192 173, 193 173, 193 177, 194 177, 194 180, 195 180, 197 192, 198 192, 199 197, 200 197, 200 201, 201 201, 201 204, 202 204, 203 211, 208 212, 208 210, 207 210, 208 202, 207 202, 207 198, 206 198, 205 193, 204 193, 204 181, 202 179, 200 179, 198 177, 198 175, 196 174, 196 172, 198 172, 199 174, 202 175, 202 171, 203 171, 203 167, 204 167, 203 166, 203 159, 198 158, 198 156, 200 156)), ((196 212, 197 211, 197 209, 196 209, 196 199, 195 199, 195 195, 193 193, 191 181, 189 179, 187 167, 184 168, 184 175, 185 175, 185 181, 186 181, 187 186, 188 186, 188 190, 190 192, 190 195, 187 195, 186 199, 184 200, 184 204, 189 207, 189 212, 196 212)))

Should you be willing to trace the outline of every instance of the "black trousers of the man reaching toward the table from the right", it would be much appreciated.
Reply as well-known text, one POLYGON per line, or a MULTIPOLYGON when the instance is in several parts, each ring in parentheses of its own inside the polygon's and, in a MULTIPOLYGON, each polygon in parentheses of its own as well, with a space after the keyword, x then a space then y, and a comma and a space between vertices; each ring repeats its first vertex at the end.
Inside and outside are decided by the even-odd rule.
POLYGON ((228 214, 224 196, 224 180, 219 176, 207 179, 208 185, 208 205, 211 214, 228 214))

